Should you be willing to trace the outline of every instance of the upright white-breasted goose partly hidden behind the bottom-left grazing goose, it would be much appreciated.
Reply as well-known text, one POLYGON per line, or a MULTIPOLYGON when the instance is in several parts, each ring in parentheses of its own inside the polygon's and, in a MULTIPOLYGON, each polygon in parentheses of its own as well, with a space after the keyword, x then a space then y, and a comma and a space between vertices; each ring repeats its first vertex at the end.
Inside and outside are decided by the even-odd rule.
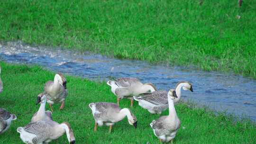
POLYGON ((42 120, 53 120, 52 117, 52 112, 47 110, 46 111, 46 95, 44 95, 43 93, 40 93, 37 96, 37 104, 41 104, 40 108, 38 109, 38 111, 33 115, 32 119, 31 119, 31 123, 33 122, 37 122, 37 121, 42 121, 42 120))

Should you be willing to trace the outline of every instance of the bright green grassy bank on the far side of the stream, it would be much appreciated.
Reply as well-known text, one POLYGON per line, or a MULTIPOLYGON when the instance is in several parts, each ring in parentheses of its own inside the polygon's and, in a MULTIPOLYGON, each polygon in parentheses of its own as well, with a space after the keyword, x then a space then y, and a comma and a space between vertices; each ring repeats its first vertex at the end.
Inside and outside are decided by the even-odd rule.
POLYGON ((244 0, 241 8, 237 0, 1 0, 0 5, 1 41, 195 64, 256 78, 256 0, 244 0))

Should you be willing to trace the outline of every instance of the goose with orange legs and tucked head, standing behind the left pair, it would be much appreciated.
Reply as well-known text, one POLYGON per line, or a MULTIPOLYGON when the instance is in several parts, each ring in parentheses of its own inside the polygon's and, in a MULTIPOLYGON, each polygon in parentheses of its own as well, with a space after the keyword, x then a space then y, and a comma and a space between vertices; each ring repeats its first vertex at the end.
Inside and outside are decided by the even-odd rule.
POLYGON ((51 110, 55 102, 61 102, 60 109, 64 108, 65 98, 68 90, 66 90, 66 79, 61 73, 55 74, 54 81, 47 81, 45 85, 45 94, 47 103, 49 103, 51 110))

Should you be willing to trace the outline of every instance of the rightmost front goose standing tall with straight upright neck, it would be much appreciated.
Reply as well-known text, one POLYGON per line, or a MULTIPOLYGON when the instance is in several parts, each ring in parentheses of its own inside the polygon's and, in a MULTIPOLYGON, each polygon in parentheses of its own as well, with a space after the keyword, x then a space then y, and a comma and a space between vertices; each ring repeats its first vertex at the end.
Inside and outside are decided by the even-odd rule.
POLYGON ((152 127, 155 136, 159 138, 160 142, 173 142, 173 139, 178 129, 180 128, 181 122, 174 108, 175 98, 177 98, 175 90, 169 90, 169 115, 159 117, 157 120, 153 120, 152 123, 150 123, 150 126, 152 127))

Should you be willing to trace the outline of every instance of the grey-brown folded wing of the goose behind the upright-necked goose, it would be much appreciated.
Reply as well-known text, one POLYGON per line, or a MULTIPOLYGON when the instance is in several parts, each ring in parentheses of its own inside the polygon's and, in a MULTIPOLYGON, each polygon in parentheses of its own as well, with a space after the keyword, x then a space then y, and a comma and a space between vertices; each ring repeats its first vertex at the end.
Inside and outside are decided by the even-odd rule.
POLYGON ((139 96, 135 97, 135 100, 145 100, 154 105, 167 105, 167 93, 167 91, 153 91, 152 93, 140 94, 139 96))

